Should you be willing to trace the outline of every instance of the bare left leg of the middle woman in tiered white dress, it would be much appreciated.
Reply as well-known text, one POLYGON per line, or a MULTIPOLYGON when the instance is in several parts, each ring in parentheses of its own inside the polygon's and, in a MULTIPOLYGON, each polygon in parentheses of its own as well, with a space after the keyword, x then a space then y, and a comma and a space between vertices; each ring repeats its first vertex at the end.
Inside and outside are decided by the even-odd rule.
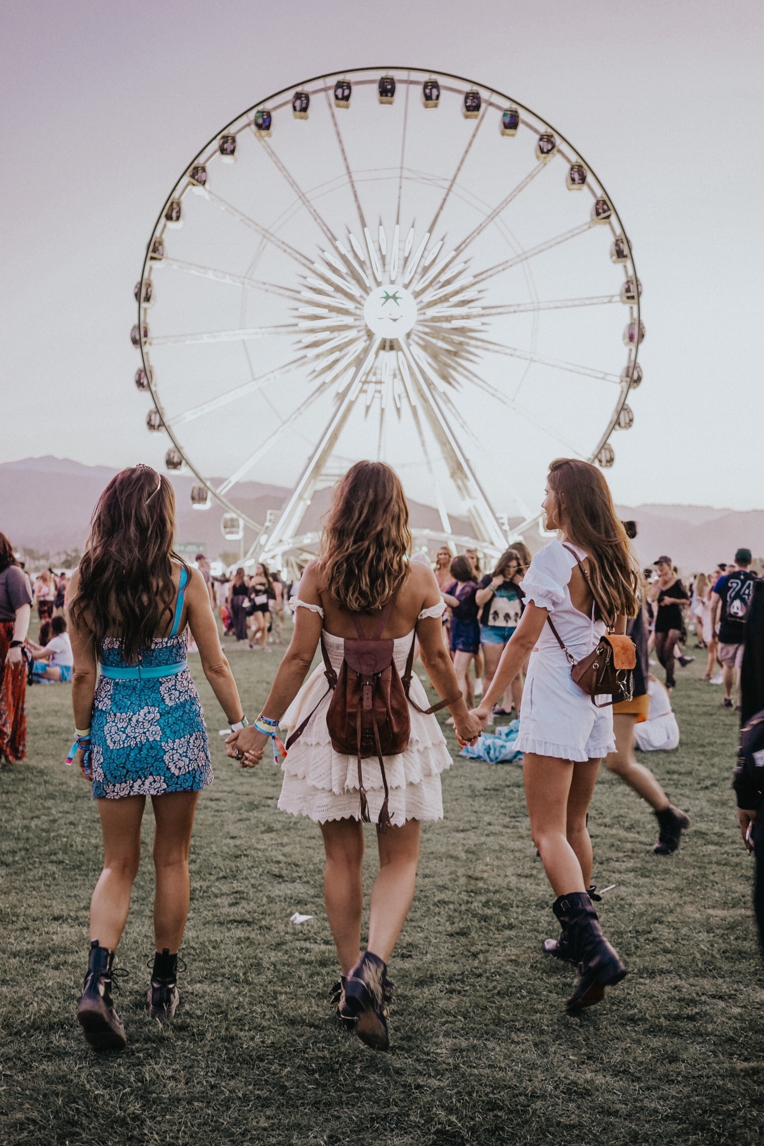
POLYGON ((324 839, 324 901, 342 975, 361 958, 363 827, 357 819, 320 824, 324 839))

